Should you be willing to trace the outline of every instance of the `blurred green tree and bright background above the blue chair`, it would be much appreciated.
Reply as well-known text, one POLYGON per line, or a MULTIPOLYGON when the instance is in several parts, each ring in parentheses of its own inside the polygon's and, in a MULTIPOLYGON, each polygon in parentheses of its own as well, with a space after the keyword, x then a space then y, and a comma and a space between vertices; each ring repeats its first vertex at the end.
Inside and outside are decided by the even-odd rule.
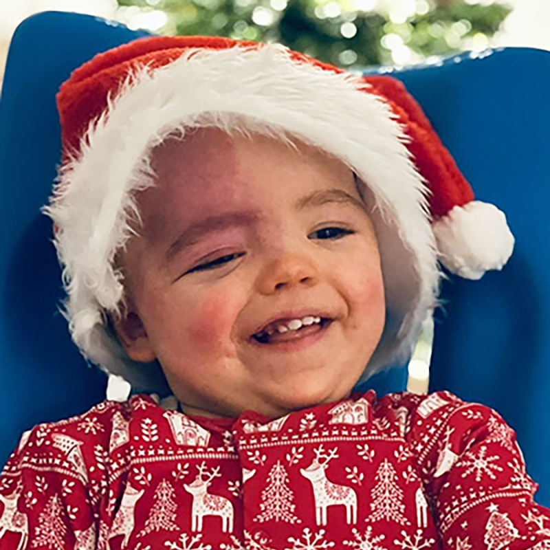
POLYGON ((12 32, 45 10, 162 34, 280 41, 352 70, 487 47, 550 50, 550 0, 2 0, 0 78, 12 32))

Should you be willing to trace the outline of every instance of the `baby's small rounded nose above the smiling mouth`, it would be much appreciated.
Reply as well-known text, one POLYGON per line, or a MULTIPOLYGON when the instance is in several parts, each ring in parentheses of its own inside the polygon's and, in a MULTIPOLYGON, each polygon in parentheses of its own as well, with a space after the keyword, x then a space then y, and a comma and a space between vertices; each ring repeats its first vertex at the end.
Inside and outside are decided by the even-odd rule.
POLYGON ((311 287, 319 281, 318 267, 305 256, 286 254, 268 263, 259 276, 259 291, 272 294, 285 287, 311 287))

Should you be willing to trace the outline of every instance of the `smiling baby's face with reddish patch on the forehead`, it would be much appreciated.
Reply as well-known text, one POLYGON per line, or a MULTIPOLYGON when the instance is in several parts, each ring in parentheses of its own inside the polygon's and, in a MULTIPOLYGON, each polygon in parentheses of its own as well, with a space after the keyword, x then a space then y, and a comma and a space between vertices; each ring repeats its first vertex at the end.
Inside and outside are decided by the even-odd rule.
POLYGON ((298 149, 204 129, 153 155, 115 329, 131 358, 159 360, 184 412, 342 399, 380 340, 380 256, 353 173, 298 149))

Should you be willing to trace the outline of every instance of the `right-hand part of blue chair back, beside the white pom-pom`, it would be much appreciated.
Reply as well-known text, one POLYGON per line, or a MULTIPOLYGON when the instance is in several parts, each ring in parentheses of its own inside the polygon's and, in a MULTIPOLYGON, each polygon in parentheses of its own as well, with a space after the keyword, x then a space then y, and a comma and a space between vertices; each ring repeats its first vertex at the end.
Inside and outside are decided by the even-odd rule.
POLYGON ((550 505, 550 52, 513 48, 395 73, 476 198, 507 214, 503 272, 450 276, 435 315, 430 391, 492 406, 517 432, 550 505))

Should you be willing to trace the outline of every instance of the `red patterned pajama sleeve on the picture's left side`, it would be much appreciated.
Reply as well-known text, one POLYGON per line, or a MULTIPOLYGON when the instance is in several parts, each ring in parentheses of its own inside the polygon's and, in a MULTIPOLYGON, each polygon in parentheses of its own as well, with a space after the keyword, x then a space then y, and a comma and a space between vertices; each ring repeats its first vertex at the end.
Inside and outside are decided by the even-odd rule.
POLYGON ((100 429, 65 421, 21 437, 0 476, 1 548, 96 548, 107 453, 82 426, 100 429))

